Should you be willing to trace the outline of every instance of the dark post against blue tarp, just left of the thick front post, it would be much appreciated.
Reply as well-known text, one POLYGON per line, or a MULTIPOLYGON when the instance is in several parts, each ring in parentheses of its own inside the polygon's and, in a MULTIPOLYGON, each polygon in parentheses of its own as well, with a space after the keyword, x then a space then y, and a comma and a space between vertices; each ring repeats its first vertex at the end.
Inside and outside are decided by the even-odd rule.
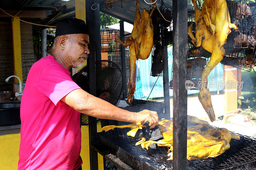
POLYGON ((164 114, 165 119, 170 119, 170 93, 169 93, 169 71, 168 71, 168 51, 166 47, 164 57, 163 85, 164 85, 164 114))

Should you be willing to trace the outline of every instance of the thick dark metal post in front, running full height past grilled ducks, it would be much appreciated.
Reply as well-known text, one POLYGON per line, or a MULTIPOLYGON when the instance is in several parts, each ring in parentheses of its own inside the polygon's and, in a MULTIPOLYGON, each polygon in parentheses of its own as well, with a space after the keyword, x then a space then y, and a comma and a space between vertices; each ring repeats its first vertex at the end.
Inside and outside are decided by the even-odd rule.
POLYGON ((173 170, 187 169, 187 0, 173 0, 173 170))

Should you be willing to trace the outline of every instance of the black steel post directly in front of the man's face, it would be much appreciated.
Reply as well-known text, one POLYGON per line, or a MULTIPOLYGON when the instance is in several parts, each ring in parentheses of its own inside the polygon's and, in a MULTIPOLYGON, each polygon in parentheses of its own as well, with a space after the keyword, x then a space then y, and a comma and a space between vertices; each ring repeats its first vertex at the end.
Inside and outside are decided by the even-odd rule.
MULTIPOLYGON (((96 95, 96 81, 95 81, 95 58, 98 59, 98 53, 100 51, 97 51, 97 33, 100 31, 97 28, 97 22, 96 21, 96 15, 99 12, 99 4, 97 5, 98 10, 92 10, 91 6, 96 1, 85 1, 86 5, 86 25, 89 29, 89 41, 90 41, 90 56, 87 59, 87 65, 89 66, 89 81, 90 81, 90 94, 96 95)), ((99 44, 98 44, 99 45, 99 44)), ((101 44, 100 44, 101 45, 101 44)), ((98 169, 98 153, 92 148, 92 144, 97 143, 97 123, 96 118, 89 116, 89 144, 90 144, 90 166, 91 170, 97 170, 98 169)))

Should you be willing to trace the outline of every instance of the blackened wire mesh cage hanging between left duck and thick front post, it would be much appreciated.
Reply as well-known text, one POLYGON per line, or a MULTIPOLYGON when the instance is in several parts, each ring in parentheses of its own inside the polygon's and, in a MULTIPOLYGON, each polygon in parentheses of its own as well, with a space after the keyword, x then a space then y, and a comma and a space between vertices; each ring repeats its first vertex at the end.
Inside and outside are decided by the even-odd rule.
MULTIPOLYGON (((152 8, 148 10, 150 13, 152 8)), ((166 7, 161 1, 159 11, 155 9, 152 15, 152 24, 154 28, 153 43, 151 51, 152 65, 150 76, 163 76, 164 59, 166 57, 166 46, 172 44, 172 8, 166 7), (161 16, 160 12, 163 16, 161 16), (165 19, 164 19, 164 18, 165 19)))

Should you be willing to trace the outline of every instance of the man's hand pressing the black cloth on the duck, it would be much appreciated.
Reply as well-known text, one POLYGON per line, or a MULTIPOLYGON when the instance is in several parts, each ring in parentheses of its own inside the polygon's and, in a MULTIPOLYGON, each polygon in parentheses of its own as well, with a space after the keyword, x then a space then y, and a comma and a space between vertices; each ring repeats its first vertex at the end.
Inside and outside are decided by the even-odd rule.
POLYGON ((141 122, 149 122, 150 129, 154 128, 155 126, 158 125, 158 116, 157 112, 155 111, 150 111, 150 110, 142 110, 138 113, 135 113, 136 115, 136 123, 141 122))

